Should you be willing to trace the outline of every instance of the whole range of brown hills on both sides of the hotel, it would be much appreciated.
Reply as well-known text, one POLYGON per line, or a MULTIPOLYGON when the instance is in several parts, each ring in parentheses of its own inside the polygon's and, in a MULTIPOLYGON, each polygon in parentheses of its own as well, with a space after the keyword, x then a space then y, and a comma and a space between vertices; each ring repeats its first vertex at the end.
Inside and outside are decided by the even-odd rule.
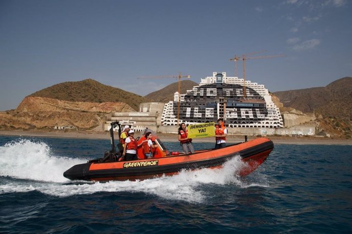
MULTIPOLYGON (((197 85, 182 80, 181 94, 197 85)), ((0 129, 52 129, 54 126, 92 129, 105 122, 106 113, 138 110, 143 102, 172 101, 177 91, 178 82, 144 97, 93 79, 63 82, 24 98, 16 110, 0 112, 0 129)), ((315 112, 320 131, 351 137, 351 77, 338 79, 325 87, 275 92, 273 95, 280 99, 277 100, 279 107, 315 112)))

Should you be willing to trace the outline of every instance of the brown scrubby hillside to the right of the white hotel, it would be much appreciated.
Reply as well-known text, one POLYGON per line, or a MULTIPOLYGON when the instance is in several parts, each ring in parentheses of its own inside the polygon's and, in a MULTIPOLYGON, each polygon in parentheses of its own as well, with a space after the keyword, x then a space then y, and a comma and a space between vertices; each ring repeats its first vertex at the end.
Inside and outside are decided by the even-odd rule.
POLYGON ((284 107, 314 112, 322 131, 350 138, 352 135, 352 78, 338 79, 325 87, 275 92, 284 107))

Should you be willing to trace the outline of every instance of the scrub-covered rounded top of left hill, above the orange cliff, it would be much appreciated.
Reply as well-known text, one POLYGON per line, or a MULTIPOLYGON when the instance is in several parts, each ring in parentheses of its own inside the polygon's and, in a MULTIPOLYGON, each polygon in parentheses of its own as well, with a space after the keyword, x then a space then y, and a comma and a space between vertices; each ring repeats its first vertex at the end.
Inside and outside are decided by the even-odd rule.
POLYGON ((29 96, 70 102, 124 102, 135 110, 139 109, 140 103, 148 101, 140 95, 99 83, 93 79, 58 83, 29 96))

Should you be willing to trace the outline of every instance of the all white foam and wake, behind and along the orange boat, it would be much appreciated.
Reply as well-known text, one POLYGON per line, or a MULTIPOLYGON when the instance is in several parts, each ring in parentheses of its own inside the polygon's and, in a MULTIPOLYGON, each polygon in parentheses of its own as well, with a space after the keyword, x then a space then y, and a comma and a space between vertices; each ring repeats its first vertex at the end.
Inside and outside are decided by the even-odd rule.
MULTIPOLYGON (((107 183, 70 183, 63 172, 71 166, 86 162, 82 159, 52 156, 50 148, 43 142, 19 140, 0 147, 1 176, 15 179, 0 185, 1 193, 39 191, 48 195, 66 197, 95 192, 143 192, 170 200, 202 202, 207 193, 203 186, 233 184, 239 188, 267 186, 265 180, 255 183, 238 179, 236 172, 245 164, 235 157, 222 168, 183 170, 172 177, 161 177, 143 181, 110 181, 107 183)), ((259 176, 260 177, 260 176, 259 176)))

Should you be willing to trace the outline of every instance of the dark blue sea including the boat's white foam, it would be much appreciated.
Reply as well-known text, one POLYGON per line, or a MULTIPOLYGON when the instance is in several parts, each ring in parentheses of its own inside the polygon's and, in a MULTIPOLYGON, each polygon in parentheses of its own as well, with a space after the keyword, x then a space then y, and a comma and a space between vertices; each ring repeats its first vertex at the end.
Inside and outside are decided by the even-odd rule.
MULTIPOLYGON (((164 145, 182 150, 175 142, 164 145)), ((109 148, 109 140, 0 136, 0 232, 352 231, 351 145, 277 144, 245 178, 236 176, 243 166, 239 157, 222 169, 143 181, 63 177, 109 148)))

